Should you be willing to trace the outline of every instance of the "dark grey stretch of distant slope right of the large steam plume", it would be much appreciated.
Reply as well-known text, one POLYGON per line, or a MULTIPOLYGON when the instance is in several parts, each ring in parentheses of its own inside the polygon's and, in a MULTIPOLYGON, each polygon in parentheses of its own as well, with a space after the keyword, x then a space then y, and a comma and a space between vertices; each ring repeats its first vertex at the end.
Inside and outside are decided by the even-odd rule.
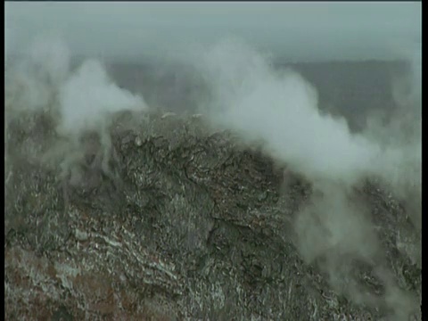
POLYGON ((366 115, 393 111, 392 81, 406 68, 405 62, 296 63, 301 75, 317 88, 323 110, 343 115, 350 128, 364 128, 366 115))

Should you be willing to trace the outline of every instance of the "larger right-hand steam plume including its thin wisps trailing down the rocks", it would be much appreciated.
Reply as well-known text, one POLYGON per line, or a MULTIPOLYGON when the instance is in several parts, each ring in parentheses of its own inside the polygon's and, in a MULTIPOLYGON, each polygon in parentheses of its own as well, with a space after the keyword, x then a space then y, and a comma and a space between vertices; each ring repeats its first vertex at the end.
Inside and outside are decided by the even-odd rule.
MULTIPOLYGON (((312 199, 295 221, 302 257, 308 262, 323 259, 320 268, 336 290, 379 307, 356 284, 343 284, 344 279, 352 279, 347 264, 351 259, 385 270, 374 224, 364 205, 352 199, 352 188, 367 177, 377 177, 410 203, 420 200, 421 140, 419 132, 411 129, 420 124, 417 92, 398 94, 403 103, 396 116, 407 114, 407 118, 377 122, 375 129, 372 121, 365 132, 352 134, 344 119, 318 111, 316 89, 298 73, 274 70, 268 58, 243 43, 226 40, 192 58, 211 88, 202 110, 212 123, 235 131, 249 144, 261 140, 265 152, 312 182, 312 199), (404 127, 409 129, 400 131, 404 127)), ((416 211, 420 226, 420 207, 407 210, 416 211)), ((416 257, 420 262, 420 251, 416 257)), ((408 303, 413 299, 391 279, 384 277, 383 282, 383 303, 402 319, 414 308, 408 303), (403 300, 392 300, 391 293, 403 300)))

